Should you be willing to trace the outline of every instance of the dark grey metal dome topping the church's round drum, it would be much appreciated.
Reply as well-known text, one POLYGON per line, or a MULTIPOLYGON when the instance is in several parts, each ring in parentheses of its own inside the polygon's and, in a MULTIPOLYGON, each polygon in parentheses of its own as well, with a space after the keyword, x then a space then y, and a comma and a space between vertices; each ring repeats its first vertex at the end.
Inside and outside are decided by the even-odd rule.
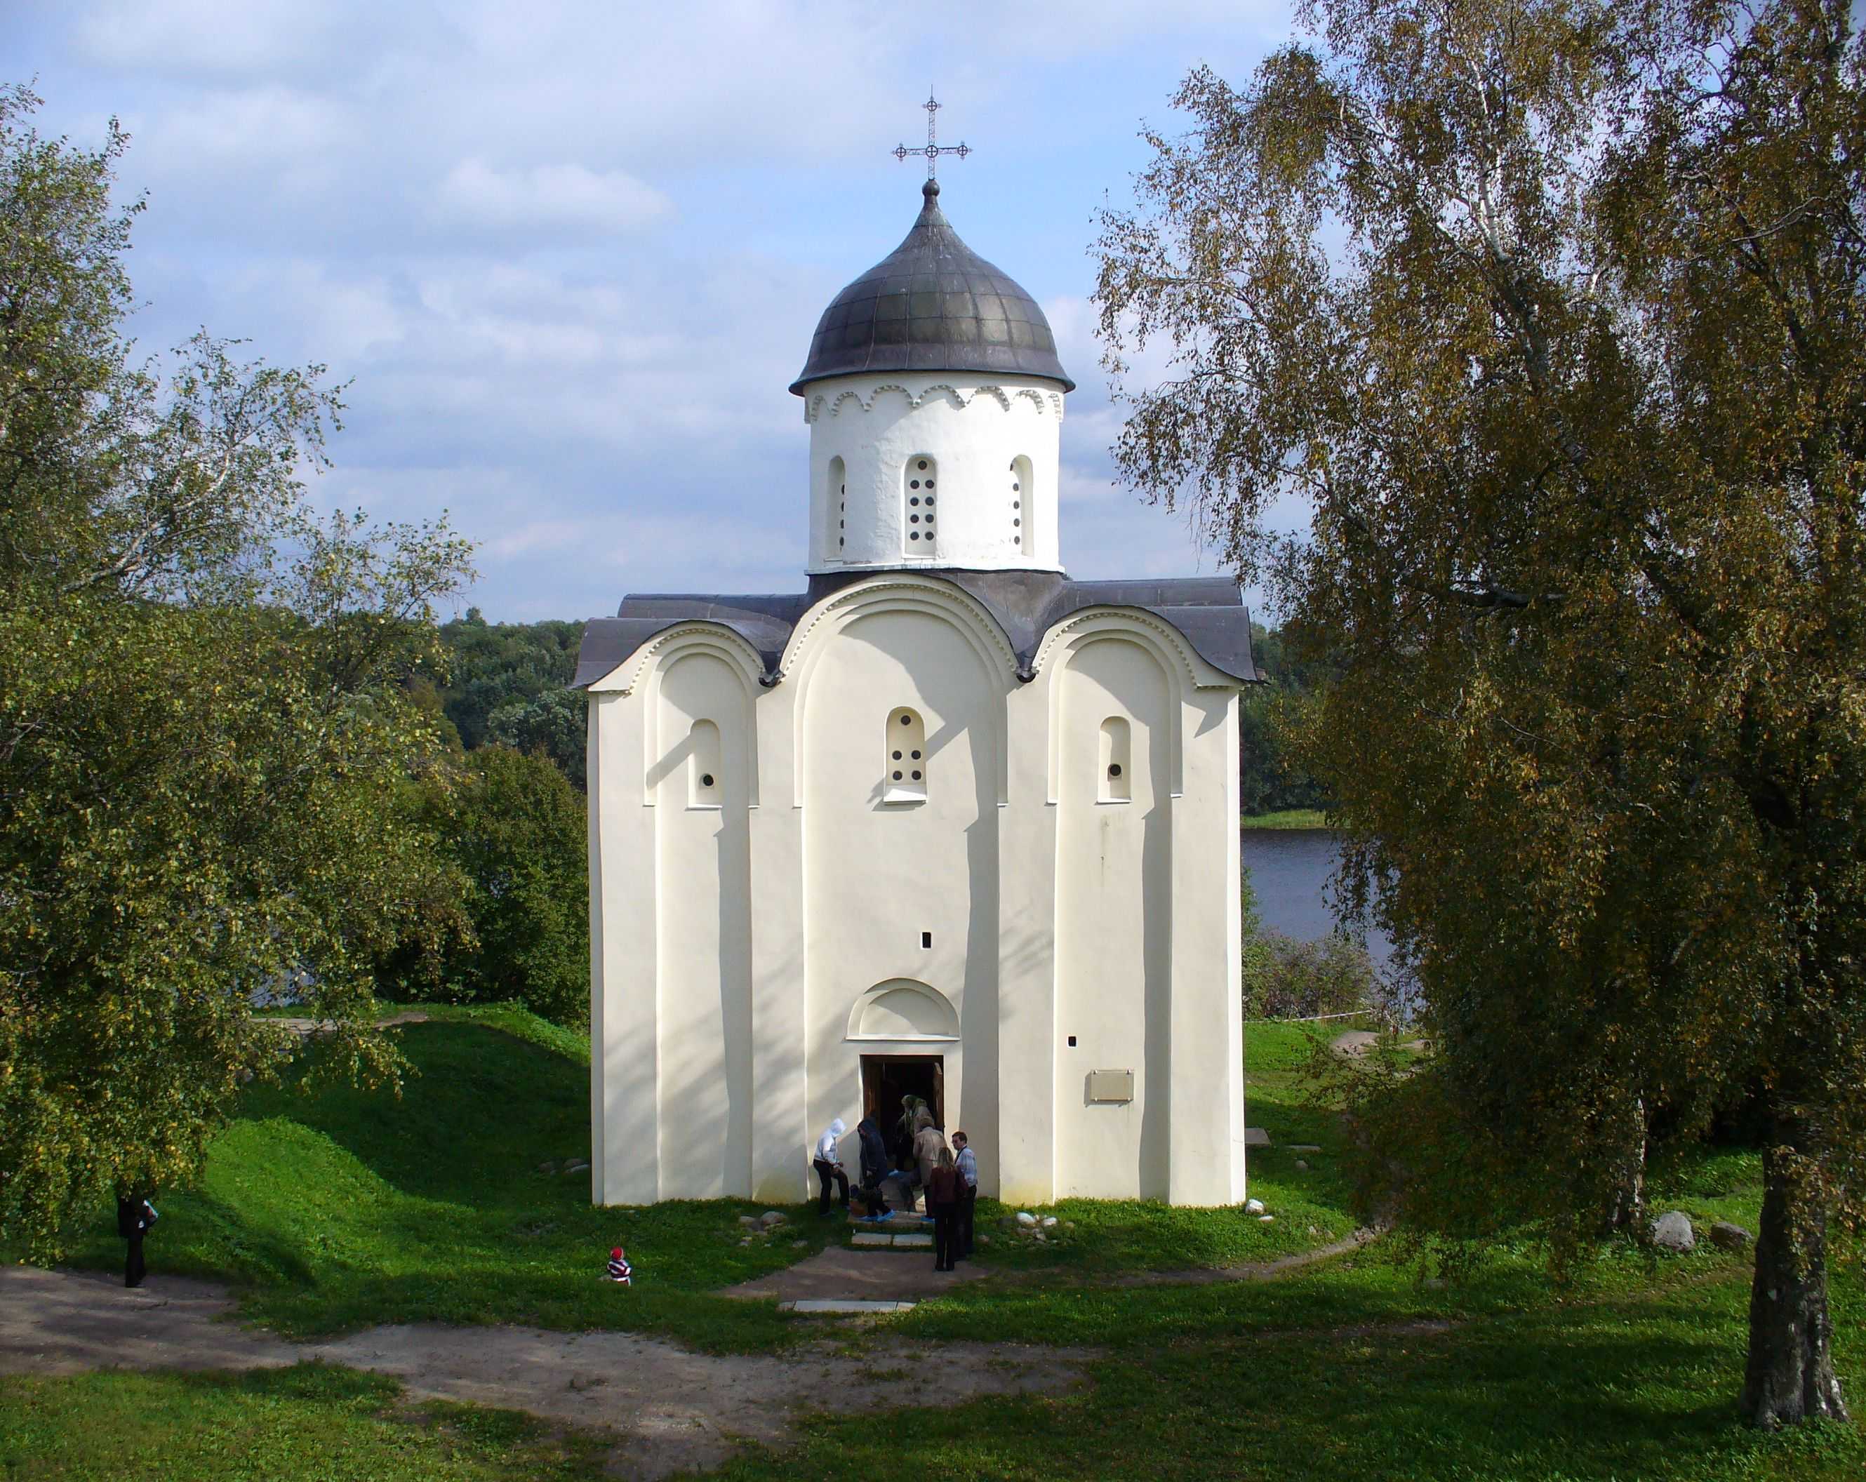
POLYGON ((1045 375, 1075 390, 1036 299, 959 241, 939 181, 922 194, 907 239, 823 310, 791 390, 855 371, 1045 375))

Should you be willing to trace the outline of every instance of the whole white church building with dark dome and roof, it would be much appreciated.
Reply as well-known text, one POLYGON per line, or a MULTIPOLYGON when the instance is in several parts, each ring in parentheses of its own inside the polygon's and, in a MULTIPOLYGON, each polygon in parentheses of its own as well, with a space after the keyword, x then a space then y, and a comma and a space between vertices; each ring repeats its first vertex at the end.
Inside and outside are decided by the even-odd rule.
POLYGON ((924 198, 791 384, 806 590, 582 640, 597 1204, 806 1198, 830 1118, 903 1094, 1004 1200, 1245 1196, 1250 620, 1064 573, 1075 383, 924 198))

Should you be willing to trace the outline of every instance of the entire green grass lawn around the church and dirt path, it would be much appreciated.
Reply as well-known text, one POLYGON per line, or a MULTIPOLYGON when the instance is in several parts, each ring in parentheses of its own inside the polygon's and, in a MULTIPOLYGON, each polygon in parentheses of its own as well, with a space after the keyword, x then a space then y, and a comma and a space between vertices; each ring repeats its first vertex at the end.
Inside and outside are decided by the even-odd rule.
MULTIPOLYGON (((246 1314, 313 1335, 373 1321, 526 1321, 651 1329, 707 1349, 834 1333, 877 1370, 940 1338, 1092 1344, 1093 1383, 1054 1398, 983 1400, 884 1419, 806 1417, 787 1452, 724 1476, 858 1471, 937 1478, 1265 1476, 1523 1478, 1523 1482, 1838 1482, 1866 1476, 1851 1426, 1756 1435, 1735 1422, 1748 1265, 1709 1243, 1689 1256, 1599 1256, 1567 1286, 1538 1252, 1502 1252, 1465 1282, 1427 1282, 1375 1245, 1265 1282, 1123 1286, 1136 1269, 1263 1260, 1347 1232, 1340 1127, 1304 1099, 1301 1068, 1338 1027, 1250 1025, 1252 1153, 1235 1209, 1054 1206, 1075 1230, 1013 1241, 982 1206, 1004 1267, 864 1329, 786 1320, 711 1288, 840 1237, 808 1206, 776 1241, 739 1245, 741 1202, 588 1208, 580 1176, 545 1159, 588 1152, 586 1045, 511 1010, 429 1010, 401 1042, 418 1075, 386 1094, 256 1090, 215 1148, 203 1187, 170 1195, 151 1239, 160 1269, 233 1277, 246 1314), (1291 1142, 1321 1152, 1295 1153, 1291 1142), (1297 1161, 1306 1163, 1299 1168, 1297 1161), (595 1279, 623 1237, 627 1293, 595 1279), (802 1239, 799 1249, 791 1241, 802 1239), (621 1297, 618 1301, 618 1297, 621 1297)), ((1659 1208, 1756 1228, 1758 1161, 1715 1153, 1666 1174, 1659 1208)), ((84 1254, 121 1245, 103 1217, 84 1254)), ((1834 1271, 1838 1363, 1866 1405, 1866 1284, 1834 1271)), ((989 1361, 987 1361, 989 1363, 989 1361)), ((414 1405, 392 1379, 302 1366, 252 1376, 108 1372, 0 1379, 0 1478, 582 1478, 597 1437, 470 1407, 414 1405)))

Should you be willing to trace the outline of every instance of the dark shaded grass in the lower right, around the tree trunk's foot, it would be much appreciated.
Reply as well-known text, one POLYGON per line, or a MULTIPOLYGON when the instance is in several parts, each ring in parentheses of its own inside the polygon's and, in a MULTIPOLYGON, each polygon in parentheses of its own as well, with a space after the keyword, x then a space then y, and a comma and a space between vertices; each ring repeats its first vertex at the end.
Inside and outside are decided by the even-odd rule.
POLYGON ((1853 1428, 1769 1437, 1737 1424, 1739 1288, 1497 1316, 1435 1336, 1205 1335, 1125 1349, 1097 1368, 1093 1391, 1064 1400, 916 1411, 884 1432, 817 1419, 799 1452, 722 1475, 1859 1476, 1866 1443, 1853 1428))

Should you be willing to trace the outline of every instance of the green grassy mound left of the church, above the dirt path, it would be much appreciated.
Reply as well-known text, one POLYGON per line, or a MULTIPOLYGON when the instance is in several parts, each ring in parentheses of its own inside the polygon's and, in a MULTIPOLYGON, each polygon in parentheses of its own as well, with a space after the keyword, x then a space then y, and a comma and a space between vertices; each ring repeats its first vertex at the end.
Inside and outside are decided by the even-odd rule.
MULTIPOLYGON (((793 1206, 741 1245, 741 1200, 593 1209, 588 1049, 519 1010, 403 1025, 412 1073, 396 1098, 336 1084, 256 1088, 215 1142, 198 1189, 162 1198, 153 1269, 231 1279, 243 1312, 293 1336, 386 1321, 646 1329, 700 1348, 765 1348, 789 1318, 713 1295, 821 1249, 793 1206), (797 1241, 802 1241, 799 1247, 797 1241), (636 1284, 601 1280, 621 1243, 636 1284)), ((99 1217, 78 1264, 121 1264, 99 1217)))

